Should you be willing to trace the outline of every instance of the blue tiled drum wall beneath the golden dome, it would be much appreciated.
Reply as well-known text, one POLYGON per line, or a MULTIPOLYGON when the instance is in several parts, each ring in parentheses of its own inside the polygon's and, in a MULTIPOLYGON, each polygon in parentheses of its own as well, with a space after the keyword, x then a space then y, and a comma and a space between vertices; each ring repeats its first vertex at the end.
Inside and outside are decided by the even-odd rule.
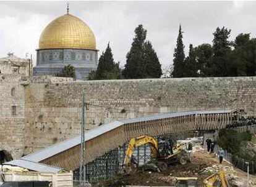
POLYGON ((98 66, 98 52, 87 49, 46 49, 37 50, 33 75, 59 73, 65 65, 75 67, 75 78, 86 79, 98 66))

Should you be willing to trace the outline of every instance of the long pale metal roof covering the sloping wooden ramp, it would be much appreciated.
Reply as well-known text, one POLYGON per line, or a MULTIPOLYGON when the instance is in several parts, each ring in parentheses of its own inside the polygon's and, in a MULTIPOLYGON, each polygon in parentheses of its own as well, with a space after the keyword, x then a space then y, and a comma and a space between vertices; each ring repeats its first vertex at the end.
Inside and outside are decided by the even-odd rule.
MULTIPOLYGON (((157 114, 153 116, 145 116, 145 117, 135 117, 131 119, 124 119, 121 121, 114 121, 110 122, 109 124, 103 124, 99 127, 96 127, 92 130, 88 130, 85 132, 85 141, 88 141, 92 138, 98 137, 99 135, 106 133, 110 130, 116 129, 117 127, 130 124, 134 122, 142 122, 142 121, 150 121, 156 119, 166 119, 170 117, 178 117, 178 116, 185 116, 185 115, 192 115, 192 114, 216 114, 216 113, 231 113, 233 110, 218 110, 218 111, 185 111, 181 113, 164 113, 164 114, 157 114)), ((36 151, 35 153, 28 154, 27 156, 22 157, 22 159, 33 161, 33 162, 40 162, 48 157, 51 157, 55 154, 61 153, 67 149, 70 149, 76 145, 81 143, 80 135, 75 136, 74 138, 70 138, 65 141, 61 141, 54 145, 51 145, 47 148, 41 149, 40 151, 36 151)))

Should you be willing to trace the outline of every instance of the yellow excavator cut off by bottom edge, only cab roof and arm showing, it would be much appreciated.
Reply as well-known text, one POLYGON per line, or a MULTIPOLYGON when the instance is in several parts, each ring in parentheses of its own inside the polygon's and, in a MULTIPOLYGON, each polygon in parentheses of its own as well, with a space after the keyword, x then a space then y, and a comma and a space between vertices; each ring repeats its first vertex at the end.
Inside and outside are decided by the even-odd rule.
POLYGON ((229 187, 228 180, 226 179, 226 175, 224 170, 220 169, 219 172, 213 173, 209 177, 203 180, 203 184, 199 185, 197 181, 197 177, 176 177, 176 187, 213 187, 221 183, 221 187, 229 187))

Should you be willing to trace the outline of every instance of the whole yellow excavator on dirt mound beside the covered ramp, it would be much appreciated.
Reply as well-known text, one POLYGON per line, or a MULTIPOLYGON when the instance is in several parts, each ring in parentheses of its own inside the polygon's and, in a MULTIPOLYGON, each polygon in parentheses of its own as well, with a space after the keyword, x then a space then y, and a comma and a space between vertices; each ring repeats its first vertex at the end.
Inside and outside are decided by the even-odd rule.
POLYGON ((184 144, 179 144, 169 140, 160 140, 159 142, 148 135, 132 138, 129 142, 129 146, 126 152, 126 158, 124 159, 124 170, 126 173, 130 173, 138 164, 134 162, 132 153, 134 148, 138 148, 142 145, 150 145, 151 160, 147 164, 143 165, 143 170, 153 170, 157 172, 164 171, 168 168, 168 165, 174 162, 179 162, 182 165, 187 164, 190 161, 190 157, 187 154, 184 144))

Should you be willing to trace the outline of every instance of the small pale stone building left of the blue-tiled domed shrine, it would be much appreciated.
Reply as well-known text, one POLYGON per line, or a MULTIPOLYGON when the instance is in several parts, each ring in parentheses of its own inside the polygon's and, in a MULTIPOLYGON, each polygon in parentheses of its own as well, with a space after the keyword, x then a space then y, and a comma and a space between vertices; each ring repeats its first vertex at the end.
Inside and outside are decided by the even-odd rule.
POLYGON ((16 57, 9 53, 7 57, 0 58, 0 74, 20 74, 30 76, 31 60, 16 57))

